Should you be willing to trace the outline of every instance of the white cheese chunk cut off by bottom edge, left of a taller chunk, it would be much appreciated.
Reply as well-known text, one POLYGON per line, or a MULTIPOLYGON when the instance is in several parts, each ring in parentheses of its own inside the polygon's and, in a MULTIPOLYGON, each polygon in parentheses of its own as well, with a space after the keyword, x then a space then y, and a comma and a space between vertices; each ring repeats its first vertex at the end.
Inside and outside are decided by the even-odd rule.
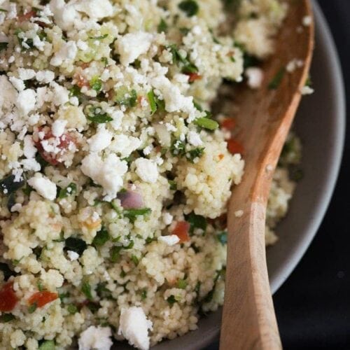
POLYGON ((90 325, 89 328, 80 333, 79 350, 109 350, 113 345, 111 336, 111 328, 90 325))

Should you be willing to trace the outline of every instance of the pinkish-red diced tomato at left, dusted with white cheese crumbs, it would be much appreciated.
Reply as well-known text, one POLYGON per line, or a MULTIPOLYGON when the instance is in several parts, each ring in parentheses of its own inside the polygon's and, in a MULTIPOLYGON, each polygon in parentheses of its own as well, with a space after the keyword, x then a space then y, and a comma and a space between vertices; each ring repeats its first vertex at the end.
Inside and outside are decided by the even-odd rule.
POLYGON ((64 151, 68 150, 69 145, 71 143, 76 144, 76 140, 73 139, 73 137, 71 137, 70 134, 65 133, 61 137, 59 137, 59 144, 57 145, 57 147, 62 151, 58 153, 47 152, 44 150, 41 141, 50 139, 54 141, 55 137, 52 135, 50 127, 42 127, 39 130, 39 132, 44 132, 45 136, 43 137, 43 139, 34 140, 34 144, 36 148, 38 148, 38 152, 41 154, 41 157, 43 157, 43 159, 46 162, 50 163, 50 165, 58 165, 62 163, 62 161, 60 161, 59 159, 62 157, 64 151))

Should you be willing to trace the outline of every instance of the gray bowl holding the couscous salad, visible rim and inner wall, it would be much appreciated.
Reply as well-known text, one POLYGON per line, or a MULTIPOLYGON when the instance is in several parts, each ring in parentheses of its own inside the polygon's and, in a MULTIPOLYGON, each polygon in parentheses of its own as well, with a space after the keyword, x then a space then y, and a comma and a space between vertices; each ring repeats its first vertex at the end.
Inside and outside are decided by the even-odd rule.
MULTIPOLYGON (((342 72, 330 30, 317 3, 314 13, 316 50, 311 78, 316 92, 304 97, 295 120, 295 130, 304 147, 304 179, 297 186, 288 216, 279 225, 279 241, 267 250, 272 293, 286 281, 316 235, 342 160, 345 135, 342 72)), ((194 332, 162 342, 153 349, 202 349, 218 339, 220 323, 221 311, 217 311, 202 319, 194 332)))

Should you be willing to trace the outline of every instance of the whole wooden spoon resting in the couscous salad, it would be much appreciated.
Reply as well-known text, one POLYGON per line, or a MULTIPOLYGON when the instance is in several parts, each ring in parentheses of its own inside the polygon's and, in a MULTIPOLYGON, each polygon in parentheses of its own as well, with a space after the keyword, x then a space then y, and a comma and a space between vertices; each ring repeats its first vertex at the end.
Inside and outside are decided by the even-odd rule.
POLYGON ((262 65, 262 87, 240 88, 235 95, 237 141, 244 146, 246 169, 228 211, 222 350, 281 349, 267 275, 265 214, 274 169, 300 103, 314 48, 314 21, 302 25, 306 16, 313 18, 310 2, 289 0, 288 6, 276 52, 262 65), (293 59, 304 64, 288 73, 286 65, 293 59), (244 214, 237 218, 235 212, 241 210, 244 214))

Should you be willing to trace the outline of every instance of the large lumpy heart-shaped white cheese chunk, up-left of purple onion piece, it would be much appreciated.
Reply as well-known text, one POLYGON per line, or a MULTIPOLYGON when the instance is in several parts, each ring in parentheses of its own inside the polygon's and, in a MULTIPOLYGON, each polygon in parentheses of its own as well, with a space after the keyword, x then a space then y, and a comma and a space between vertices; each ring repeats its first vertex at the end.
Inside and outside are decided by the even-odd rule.
POLYGON ((127 172, 127 162, 115 154, 102 160, 97 153, 90 153, 81 162, 81 171, 104 188, 109 199, 116 198, 123 186, 123 176, 127 172))

